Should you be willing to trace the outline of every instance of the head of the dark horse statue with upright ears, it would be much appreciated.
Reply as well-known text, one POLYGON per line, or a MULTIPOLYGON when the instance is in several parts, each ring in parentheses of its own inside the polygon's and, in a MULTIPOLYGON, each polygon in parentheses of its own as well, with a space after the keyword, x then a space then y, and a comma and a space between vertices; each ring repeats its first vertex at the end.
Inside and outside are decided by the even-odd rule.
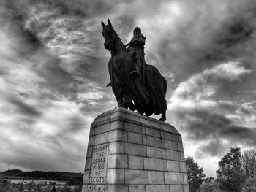
POLYGON ((107 50, 112 50, 114 39, 116 38, 116 32, 113 29, 113 26, 110 23, 109 19, 108 19, 108 25, 106 25, 106 26, 102 21, 102 27, 103 27, 102 35, 105 39, 104 46, 107 50))

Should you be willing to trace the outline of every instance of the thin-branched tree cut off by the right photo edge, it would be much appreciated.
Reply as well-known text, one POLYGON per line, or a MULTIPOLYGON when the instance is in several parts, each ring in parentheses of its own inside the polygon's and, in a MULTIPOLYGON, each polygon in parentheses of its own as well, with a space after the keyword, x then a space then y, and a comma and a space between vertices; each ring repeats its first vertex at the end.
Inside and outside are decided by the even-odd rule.
POLYGON ((246 188, 256 187, 256 151, 245 150, 241 156, 246 188))

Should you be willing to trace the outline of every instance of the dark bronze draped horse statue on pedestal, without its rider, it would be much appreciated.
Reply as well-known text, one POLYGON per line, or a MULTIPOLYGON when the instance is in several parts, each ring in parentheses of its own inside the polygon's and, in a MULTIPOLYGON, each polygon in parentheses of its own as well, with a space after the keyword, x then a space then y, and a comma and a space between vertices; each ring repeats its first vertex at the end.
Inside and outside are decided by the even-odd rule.
POLYGON ((143 65, 143 80, 141 77, 133 77, 131 72, 134 70, 134 58, 127 53, 110 20, 108 19, 108 25, 103 21, 101 24, 104 46, 111 53, 108 62, 111 82, 107 86, 112 86, 118 106, 132 111, 137 110, 147 116, 162 114, 159 120, 165 121, 167 110, 165 77, 162 77, 156 67, 148 64, 143 65))

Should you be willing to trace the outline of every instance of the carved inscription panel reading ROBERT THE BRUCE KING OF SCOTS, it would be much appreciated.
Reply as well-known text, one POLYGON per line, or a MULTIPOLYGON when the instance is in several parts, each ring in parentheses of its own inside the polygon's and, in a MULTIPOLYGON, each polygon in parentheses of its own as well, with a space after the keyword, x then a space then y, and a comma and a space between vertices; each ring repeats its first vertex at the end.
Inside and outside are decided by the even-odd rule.
MULTIPOLYGON (((89 183, 104 184, 106 182, 107 164, 108 144, 94 146, 92 149, 91 175, 89 183)), ((101 191, 104 191, 104 189, 101 191)), ((99 192, 101 191, 99 190, 99 192)))

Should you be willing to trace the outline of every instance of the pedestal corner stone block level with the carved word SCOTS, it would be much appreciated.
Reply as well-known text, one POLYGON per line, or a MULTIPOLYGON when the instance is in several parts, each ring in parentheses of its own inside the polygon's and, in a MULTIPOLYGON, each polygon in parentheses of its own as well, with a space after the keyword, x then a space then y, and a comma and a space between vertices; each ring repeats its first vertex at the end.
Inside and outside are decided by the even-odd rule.
POLYGON ((108 169, 108 184, 124 184, 124 169, 108 169))

